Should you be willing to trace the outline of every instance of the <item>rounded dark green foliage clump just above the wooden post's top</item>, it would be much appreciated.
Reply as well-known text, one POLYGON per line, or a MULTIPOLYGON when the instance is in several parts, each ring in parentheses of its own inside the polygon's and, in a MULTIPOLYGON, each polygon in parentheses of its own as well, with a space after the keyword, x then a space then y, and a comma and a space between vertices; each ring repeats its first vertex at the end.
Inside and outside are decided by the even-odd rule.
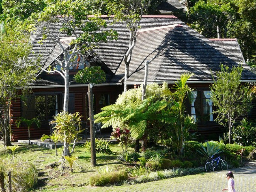
POLYGON ((77 83, 100 84, 106 81, 106 75, 100 66, 93 66, 79 70, 74 79, 77 83))

